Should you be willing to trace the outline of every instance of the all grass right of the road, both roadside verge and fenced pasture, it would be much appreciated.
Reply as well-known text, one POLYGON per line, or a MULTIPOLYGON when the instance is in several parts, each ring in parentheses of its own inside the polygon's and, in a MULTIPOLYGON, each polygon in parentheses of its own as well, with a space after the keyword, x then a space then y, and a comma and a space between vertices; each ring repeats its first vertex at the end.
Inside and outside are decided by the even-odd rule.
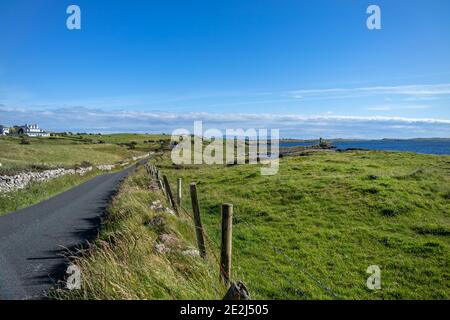
MULTIPOLYGON (((174 166, 167 154, 155 162, 173 189, 183 179, 188 210, 188 183, 198 183, 216 254, 220 204, 234 204, 233 279, 243 280, 252 298, 450 298, 448 156, 317 151, 284 157, 275 176, 252 165, 174 166), (381 268, 381 290, 366 286, 371 265, 381 268)), ((71 298, 223 294, 214 290, 214 259, 152 251, 157 233, 144 223, 155 214, 149 202, 161 195, 148 191, 147 179, 141 170, 123 187, 101 241, 78 261, 84 287, 71 298)), ((170 232, 194 246, 188 224, 174 220, 170 232)))

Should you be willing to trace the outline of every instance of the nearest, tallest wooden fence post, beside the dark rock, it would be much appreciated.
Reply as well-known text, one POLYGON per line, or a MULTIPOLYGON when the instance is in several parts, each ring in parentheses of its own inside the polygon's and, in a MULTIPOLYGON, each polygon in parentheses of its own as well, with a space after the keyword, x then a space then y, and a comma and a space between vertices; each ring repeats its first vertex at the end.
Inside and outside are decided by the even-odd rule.
POLYGON ((222 204, 222 243, 220 248, 220 274, 225 284, 230 283, 231 244, 233 240, 233 205, 222 204))

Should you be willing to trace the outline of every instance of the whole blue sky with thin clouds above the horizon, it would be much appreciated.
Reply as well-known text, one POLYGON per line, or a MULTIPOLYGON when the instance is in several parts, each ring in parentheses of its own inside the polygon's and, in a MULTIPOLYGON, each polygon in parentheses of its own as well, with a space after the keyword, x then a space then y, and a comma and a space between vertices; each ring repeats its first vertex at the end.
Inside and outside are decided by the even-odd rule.
POLYGON ((450 137, 450 1, 0 2, 0 124, 450 137), (66 28, 81 8, 82 29, 66 28), (381 7, 382 30, 366 9, 381 7))

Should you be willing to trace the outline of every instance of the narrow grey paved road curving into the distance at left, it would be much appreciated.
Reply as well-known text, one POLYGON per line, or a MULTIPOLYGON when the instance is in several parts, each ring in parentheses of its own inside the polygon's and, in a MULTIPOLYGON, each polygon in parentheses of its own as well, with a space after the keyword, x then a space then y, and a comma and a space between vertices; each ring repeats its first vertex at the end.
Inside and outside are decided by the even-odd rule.
POLYGON ((64 253, 97 234, 111 196, 132 168, 95 177, 0 216, 0 300, 41 299, 64 277, 64 253))

